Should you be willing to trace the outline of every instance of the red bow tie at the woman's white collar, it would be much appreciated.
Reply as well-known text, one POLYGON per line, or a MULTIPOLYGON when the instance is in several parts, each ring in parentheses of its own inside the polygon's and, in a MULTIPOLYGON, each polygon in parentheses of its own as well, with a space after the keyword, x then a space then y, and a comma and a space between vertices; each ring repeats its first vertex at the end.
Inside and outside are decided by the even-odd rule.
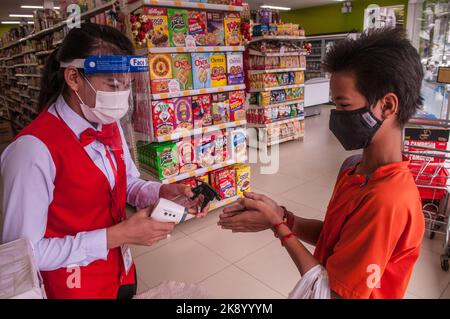
POLYGON ((122 149, 122 139, 116 123, 103 125, 101 131, 88 128, 80 135, 80 143, 83 147, 91 144, 95 140, 103 145, 109 146, 113 150, 122 149))

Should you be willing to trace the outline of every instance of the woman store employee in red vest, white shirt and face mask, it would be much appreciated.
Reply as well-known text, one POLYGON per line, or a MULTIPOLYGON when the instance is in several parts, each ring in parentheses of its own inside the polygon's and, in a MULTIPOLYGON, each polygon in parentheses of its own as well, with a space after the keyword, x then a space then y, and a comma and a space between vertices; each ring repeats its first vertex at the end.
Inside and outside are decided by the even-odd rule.
POLYGON ((49 298, 132 297, 127 245, 153 245, 174 227, 149 218, 147 207, 159 197, 192 195, 185 186, 139 179, 117 122, 129 107, 127 75, 91 76, 71 65, 133 53, 114 28, 72 29, 46 63, 41 114, 2 154, 3 242, 31 240, 49 298), (141 208, 128 219, 126 201, 141 208))

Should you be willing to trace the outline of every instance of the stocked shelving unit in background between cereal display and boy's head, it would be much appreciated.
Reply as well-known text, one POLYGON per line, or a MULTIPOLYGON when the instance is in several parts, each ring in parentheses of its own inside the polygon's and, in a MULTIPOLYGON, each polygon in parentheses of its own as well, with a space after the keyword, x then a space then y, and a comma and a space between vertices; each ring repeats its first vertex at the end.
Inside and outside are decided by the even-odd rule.
POLYGON ((247 108, 247 127, 254 128, 257 136, 257 141, 249 139, 249 146, 252 148, 267 150, 272 145, 304 136, 304 73, 307 53, 301 44, 305 39, 302 36, 261 36, 250 41, 250 44, 255 45, 250 45, 246 50, 246 83, 247 92, 251 95, 247 108), (257 44, 261 41, 272 43, 269 52, 266 52, 266 46, 257 44), (291 43, 295 45, 290 45, 291 43), (294 61, 297 62, 291 61, 288 64, 290 59, 296 59, 294 61), (284 63, 288 66, 283 66, 284 63), (291 78, 293 75, 295 80, 291 78), (300 80, 297 75, 300 75, 300 80), (283 76, 289 77, 289 84, 274 85, 276 82, 280 84, 283 76), (300 96, 287 98, 288 92, 294 95, 294 91, 296 94, 301 92, 300 96), (275 96, 280 95, 280 92, 285 98, 284 101, 277 102, 275 96))

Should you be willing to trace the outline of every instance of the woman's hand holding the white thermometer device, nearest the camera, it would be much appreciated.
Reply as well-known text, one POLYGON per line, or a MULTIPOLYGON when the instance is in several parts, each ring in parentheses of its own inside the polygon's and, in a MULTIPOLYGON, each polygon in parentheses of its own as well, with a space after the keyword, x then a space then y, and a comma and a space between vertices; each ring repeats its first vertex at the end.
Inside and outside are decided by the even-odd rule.
POLYGON ((161 223, 150 218, 153 208, 144 208, 130 218, 107 229, 108 249, 123 244, 151 246, 166 239, 174 223, 161 223))

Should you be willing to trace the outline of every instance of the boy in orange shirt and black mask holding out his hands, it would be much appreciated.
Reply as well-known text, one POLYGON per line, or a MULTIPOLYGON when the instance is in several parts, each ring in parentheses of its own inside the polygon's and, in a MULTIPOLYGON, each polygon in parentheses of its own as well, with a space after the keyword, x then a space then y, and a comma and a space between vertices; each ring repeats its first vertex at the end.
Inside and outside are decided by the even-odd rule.
POLYGON ((363 149, 340 172, 324 222, 248 193, 219 224, 236 232, 272 228, 302 276, 323 267, 332 298, 402 298, 425 228, 401 138, 422 105, 419 55, 404 30, 381 29, 336 44, 324 65, 336 104, 330 130, 346 150, 363 149), (315 245, 314 255, 297 238, 315 245))

